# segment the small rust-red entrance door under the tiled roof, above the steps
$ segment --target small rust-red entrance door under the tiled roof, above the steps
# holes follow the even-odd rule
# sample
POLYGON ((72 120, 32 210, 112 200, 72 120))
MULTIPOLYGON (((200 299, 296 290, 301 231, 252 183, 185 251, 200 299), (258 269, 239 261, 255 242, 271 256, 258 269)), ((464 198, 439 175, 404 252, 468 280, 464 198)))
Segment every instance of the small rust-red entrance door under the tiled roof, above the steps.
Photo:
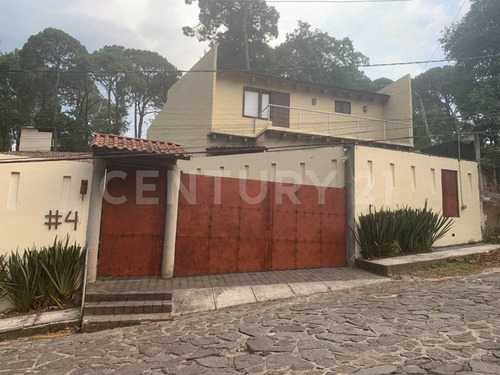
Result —
POLYGON ((157 172, 157 176, 148 173, 141 177, 134 169, 119 168, 108 170, 108 176, 113 171, 125 172, 126 177, 112 178, 107 184, 106 191, 112 199, 103 200, 97 275, 159 276, 166 173, 148 171, 157 172), (145 184, 142 188, 138 180, 145 184))

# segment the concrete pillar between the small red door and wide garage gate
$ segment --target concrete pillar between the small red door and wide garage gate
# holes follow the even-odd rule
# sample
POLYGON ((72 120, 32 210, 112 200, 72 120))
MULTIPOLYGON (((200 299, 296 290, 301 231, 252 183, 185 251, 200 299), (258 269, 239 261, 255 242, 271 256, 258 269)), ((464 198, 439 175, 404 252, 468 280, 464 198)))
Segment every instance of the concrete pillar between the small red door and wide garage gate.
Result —
POLYGON ((165 211, 165 230, 163 237, 163 256, 161 278, 174 277, 175 240, 177 237, 177 214, 179 212, 179 188, 181 172, 176 165, 169 166, 167 173, 167 209, 165 211))

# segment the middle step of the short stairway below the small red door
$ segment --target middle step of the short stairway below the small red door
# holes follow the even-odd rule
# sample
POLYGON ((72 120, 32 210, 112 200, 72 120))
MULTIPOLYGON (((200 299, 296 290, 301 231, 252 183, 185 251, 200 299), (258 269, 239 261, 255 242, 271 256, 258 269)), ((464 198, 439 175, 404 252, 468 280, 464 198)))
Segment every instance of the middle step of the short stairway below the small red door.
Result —
POLYGON ((83 316, 122 314, 163 314, 172 311, 172 301, 106 301, 85 302, 83 316))

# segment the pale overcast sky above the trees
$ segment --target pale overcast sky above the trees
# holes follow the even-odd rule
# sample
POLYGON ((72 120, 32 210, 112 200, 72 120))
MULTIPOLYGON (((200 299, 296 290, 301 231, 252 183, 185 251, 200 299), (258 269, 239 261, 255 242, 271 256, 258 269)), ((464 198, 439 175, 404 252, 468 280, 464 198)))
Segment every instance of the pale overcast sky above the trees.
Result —
MULTIPOLYGON (((280 37, 273 43, 282 41, 302 20, 336 38, 349 37, 372 64, 428 60, 444 27, 469 10, 469 0, 355 1, 270 3, 281 15, 280 37)), ((89 52, 111 44, 148 49, 180 69, 189 69, 208 49, 207 43, 182 34, 182 26, 194 26, 198 20, 197 3, 186 5, 184 0, 1 0, 1 4, 1 52, 22 48, 30 35, 46 27, 67 32, 89 52)), ((439 47, 432 58, 443 57, 439 47)), ((372 79, 397 79, 433 66, 365 68, 365 73, 372 79)))

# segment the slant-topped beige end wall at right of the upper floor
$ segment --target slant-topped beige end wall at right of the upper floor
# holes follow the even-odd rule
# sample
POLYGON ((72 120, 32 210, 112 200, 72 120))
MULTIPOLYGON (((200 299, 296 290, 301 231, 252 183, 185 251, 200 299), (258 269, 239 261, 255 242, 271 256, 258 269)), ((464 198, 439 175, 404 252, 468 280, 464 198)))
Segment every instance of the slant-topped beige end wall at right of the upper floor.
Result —
POLYGON ((384 106, 384 118, 396 123, 387 123, 388 134, 396 143, 406 143, 413 146, 413 107, 411 93, 411 77, 406 75, 387 85, 379 91, 390 95, 384 106), (399 122, 411 124, 411 131, 399 122), (410 137, 410 138, 408 138, 410 137))

